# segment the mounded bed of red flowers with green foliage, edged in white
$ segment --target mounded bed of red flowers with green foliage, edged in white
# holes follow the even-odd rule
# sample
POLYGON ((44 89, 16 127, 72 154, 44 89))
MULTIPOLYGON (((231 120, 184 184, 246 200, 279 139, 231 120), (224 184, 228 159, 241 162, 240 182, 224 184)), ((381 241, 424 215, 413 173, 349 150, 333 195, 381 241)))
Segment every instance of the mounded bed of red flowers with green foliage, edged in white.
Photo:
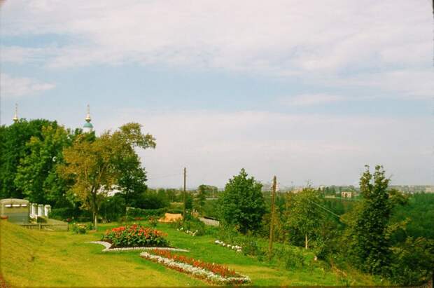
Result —
POLYGON ((111 247, 168 247, 167 234, 153 228, 145 228, 136 224, 120 226, 107 230, 102 241, 110 242, 111 247))

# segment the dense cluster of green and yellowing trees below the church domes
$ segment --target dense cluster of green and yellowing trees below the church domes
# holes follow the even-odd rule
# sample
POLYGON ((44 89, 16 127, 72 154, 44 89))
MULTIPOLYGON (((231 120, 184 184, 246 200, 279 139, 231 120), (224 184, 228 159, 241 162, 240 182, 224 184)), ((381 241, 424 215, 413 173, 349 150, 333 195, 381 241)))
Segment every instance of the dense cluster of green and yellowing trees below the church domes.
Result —
POLYGON ((137 123, 97 137, 55 121, 21 119, 0 126, 0 198, 79 206, 92 212, 96 226, 110 191, 120 191, 125 205, 146 203, 146 171, 135 149, 154 147, 137 123))

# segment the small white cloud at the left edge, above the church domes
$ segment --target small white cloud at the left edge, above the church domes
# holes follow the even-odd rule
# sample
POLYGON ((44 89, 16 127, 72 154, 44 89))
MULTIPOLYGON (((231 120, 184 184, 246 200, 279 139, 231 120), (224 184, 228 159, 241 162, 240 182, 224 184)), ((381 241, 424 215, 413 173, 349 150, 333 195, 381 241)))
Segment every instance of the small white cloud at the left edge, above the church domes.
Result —
POLYGON ((55 88, 55 85, 51 83, 41 83, 33 78, 12 77, 4 73, 0 74, 0 82, 0 92, 4 98, 34 95, 55 88))

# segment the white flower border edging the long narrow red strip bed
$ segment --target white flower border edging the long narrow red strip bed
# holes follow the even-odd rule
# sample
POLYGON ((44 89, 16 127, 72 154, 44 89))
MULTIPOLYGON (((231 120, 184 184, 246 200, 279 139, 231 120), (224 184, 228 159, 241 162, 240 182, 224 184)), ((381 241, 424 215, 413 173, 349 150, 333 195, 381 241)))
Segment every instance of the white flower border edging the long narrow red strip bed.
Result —
POLYGON ((244 284, 251 282, 250 277, 246 275, 239 274, 239 277, 223 277, 221 275, 217 275, 209 270, 205 270, 203 268, 198 268, 192 266, 188 263, 182 263, 178 261, 174 261, 169 258, 165 258, 159 255, 150 254, 148 252, 141 252, 141 257, 151 260, 153 262, 161 263, 167 268, 171 268, 174 270, 178 270, 184 273, 190 273, 195 277, 199 277, 205 280, 209 280, 210 282, 219 283, 219 284, 244 284))

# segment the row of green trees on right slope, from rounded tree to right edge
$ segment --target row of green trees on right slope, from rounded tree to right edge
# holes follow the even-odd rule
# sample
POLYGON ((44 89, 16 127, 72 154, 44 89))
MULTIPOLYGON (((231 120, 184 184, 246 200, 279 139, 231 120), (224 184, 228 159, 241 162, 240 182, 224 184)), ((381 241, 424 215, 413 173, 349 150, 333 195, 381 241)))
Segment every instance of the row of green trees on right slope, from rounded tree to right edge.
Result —
MULTIPOLYGON (((373 174, 367 166, 360 177, 360 200, 342 215, 325 205, 323 191, 310 186, 281 194, 276 201, 275 239, 399 284, 426 282, 434 268, 434 240, 406 233, 411 219, 394 214, 407 206, 408 197, 388 190, 389 181, 381 166, 373 174)), ((261 188, 245 170, 230 179, 218 200, 223 224, 240 233, 269 237, 269 205, 261 188)))

